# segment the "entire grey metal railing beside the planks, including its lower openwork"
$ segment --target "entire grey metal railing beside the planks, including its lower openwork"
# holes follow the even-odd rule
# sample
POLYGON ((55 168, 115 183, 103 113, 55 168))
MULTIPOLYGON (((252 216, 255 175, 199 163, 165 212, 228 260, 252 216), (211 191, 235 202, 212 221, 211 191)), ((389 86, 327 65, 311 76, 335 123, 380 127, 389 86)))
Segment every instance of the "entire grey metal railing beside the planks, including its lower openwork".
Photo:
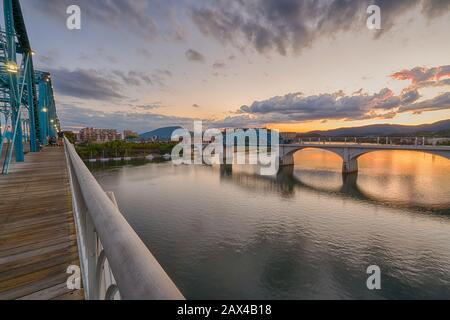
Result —
POLYGON ((65 150, 86 298, 184 299, 67 139, 65 150))

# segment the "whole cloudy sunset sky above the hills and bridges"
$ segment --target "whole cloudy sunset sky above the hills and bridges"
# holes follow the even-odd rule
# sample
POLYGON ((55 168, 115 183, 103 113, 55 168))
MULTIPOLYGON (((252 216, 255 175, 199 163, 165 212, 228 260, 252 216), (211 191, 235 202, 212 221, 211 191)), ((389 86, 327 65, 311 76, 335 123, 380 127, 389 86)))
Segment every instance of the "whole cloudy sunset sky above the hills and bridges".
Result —
POLYGON ((450 0, 21 0, 63 128, 450 118, 450 0), (66 27, 69 5, 81 29, 66 27), (369 30, 367 7, 381 9, 369 30))

